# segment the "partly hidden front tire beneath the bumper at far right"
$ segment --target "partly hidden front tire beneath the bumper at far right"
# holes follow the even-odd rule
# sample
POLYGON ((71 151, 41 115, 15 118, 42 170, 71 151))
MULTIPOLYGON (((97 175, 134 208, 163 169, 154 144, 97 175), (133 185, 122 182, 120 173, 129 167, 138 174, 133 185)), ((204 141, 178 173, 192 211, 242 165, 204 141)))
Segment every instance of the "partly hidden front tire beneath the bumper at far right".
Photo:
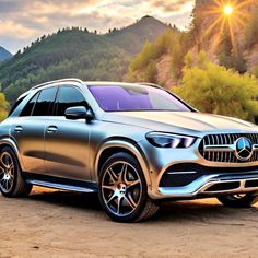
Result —
POLYGON ((258 195, 251 194, 241 194, 231 196, 218 197, 218 200, 225 207, 231 208, 250 208, 258 201, 258 195))

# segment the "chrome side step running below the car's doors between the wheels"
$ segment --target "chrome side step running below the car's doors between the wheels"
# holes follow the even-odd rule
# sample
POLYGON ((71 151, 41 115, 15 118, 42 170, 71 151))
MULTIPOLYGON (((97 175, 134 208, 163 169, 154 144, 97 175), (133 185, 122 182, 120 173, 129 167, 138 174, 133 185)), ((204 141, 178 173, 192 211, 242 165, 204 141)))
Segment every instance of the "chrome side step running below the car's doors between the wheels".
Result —
POLYGON ((68 190, 68 191, 97 192, 97 189, 92 189, 87 187, 56 184, 56 183, 35 180, 35 179, 27 179, 26 183, 35 185, 35 186, 42 186, 42 187, 48 187, 48 188, 68 190))

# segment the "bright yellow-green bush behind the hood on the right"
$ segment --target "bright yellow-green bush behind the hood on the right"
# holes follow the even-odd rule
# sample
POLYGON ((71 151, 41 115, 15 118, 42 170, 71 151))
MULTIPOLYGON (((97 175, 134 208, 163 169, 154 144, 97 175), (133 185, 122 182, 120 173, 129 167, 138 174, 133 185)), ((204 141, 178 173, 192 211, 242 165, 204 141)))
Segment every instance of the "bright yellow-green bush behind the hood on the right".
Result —
POLYGON ((185 67, 183 84, 176 93, 201 112, 254 121, 258 114, 257 79, 208 60, 202 60, 202 66, 198 62, 200 55, 195 66, 185 67))

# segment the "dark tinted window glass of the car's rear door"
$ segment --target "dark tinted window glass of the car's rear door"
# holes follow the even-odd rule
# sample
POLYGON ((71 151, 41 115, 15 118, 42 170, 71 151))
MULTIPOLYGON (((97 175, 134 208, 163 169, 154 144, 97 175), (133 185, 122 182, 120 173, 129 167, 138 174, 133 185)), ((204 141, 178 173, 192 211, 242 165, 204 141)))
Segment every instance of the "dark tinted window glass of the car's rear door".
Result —
POLYGON ((46 90, 42 90, 36 105, 34 106, 33 109, 33 116, 48 116, 51 107, 55 103, 55 97, 56 97, 56 87, 48 87, 46 90))

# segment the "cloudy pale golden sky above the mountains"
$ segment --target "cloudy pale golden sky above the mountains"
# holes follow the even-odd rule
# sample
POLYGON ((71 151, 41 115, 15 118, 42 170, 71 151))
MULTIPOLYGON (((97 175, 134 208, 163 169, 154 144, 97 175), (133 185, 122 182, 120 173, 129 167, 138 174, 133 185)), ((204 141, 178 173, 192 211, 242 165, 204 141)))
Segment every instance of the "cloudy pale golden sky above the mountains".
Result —
POLYGON ((68 26, 106 33, 152 15, 189 25, 195 0, 0 0, 0 46, 15 54, 44 34, 68 26))

